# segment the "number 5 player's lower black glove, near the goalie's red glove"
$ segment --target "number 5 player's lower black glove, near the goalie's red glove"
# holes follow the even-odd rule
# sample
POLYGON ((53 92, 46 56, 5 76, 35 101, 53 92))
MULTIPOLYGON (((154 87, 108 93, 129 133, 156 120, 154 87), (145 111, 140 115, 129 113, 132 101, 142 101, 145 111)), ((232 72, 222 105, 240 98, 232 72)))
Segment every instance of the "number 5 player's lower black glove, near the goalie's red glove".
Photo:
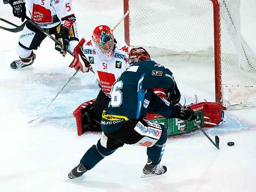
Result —
POLYGON ((70 41, 70 36, 69 36, 69 31, 70 29, 61 25, 61 31, 60 33, 57 33, 55 35, 56 39, 61 43, 61 45, 58 45, 57 43, 55 43, 55 49, 57 51, 60 51, 60 53, 63 55, 63 57, 66 56, 67 54, 67 47, 70 41))

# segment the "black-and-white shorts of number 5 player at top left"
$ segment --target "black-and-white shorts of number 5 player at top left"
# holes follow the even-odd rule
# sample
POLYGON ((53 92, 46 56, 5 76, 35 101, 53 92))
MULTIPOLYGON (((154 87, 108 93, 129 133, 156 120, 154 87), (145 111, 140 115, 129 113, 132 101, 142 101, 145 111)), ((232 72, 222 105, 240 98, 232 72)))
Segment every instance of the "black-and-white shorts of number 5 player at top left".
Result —
MULTIPOLYGON (((60 26, 52 27, 49 29, 43 29, 47 31, 49 34, 54 34, 56 38, 58 38, 58 33, 60 32, 60 26)), ((79 40, 78 33, 76 28, 76 22, 72 25, 70 31, 70 41, 71 40, 79 40)), ((24 49, 36 50, 41 42, 45 39, 46 35, 42 33, 39 29, 37 29, 30 22, 27 22, 24 29, 22 30, 22 34, 19 38, 19 45, 24 49)))

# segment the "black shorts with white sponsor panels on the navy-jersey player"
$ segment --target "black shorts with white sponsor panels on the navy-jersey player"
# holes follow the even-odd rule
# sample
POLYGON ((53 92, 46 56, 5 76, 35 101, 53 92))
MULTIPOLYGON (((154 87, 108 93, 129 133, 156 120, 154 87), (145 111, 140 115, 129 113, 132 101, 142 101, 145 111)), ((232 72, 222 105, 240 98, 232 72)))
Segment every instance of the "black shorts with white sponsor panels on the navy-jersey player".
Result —
POLYGON ((144 120, 129 120, 120 129, 111 133, 102 133, 100 143, 105 148, 121 147, 125 144, 153 147, 163 145, 167 140, 164 125, 144 120))

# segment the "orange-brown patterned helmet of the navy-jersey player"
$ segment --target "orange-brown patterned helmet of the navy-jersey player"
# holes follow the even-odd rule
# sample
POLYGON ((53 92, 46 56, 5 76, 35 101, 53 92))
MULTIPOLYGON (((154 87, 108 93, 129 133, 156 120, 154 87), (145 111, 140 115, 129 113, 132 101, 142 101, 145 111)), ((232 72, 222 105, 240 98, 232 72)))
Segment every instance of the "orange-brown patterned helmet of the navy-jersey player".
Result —
POLYGON ((132 65, 133 63, 138 63, 143 60, 149 60, 150 55, 148 52, 142 48, 132 48, 129 53, 129 64, 132 65))

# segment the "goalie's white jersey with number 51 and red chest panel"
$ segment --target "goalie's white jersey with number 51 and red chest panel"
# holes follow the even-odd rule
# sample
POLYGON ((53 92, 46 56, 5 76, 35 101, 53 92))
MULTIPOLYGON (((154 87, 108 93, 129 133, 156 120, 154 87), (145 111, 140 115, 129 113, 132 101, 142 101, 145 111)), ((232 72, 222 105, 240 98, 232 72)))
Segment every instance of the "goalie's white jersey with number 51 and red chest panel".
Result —
POLYGON ((83 54, 90 61, 92 70, 97 76, 97 80, 101 85, 102 91, 110 96, 113 83, 129 66, 128 53, 130 47, 124 41, 117 40, 113 57, 111 59, 106 56, 95 46, 92 38, 85 41, 83 45, 83 54))

